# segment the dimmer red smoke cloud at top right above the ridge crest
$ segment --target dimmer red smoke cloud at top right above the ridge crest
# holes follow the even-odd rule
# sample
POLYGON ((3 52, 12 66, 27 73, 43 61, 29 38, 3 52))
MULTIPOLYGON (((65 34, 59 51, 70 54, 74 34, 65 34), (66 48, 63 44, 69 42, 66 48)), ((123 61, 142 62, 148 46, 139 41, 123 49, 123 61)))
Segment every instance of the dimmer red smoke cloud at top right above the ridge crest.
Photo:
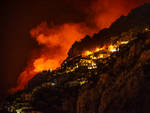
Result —
POLYGON ((108 28, 121 15, 149 0, 96 0, 91 5, 93 21, 99 29, 108 28))

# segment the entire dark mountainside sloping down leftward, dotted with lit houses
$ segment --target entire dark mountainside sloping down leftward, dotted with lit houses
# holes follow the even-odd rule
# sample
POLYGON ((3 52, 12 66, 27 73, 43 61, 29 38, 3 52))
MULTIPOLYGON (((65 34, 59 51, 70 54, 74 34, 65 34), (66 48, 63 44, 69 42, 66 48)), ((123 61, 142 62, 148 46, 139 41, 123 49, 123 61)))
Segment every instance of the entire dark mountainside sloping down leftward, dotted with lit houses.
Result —
POLYGON ((10 96, 1 105, 2 110, 18 113, 149 113, 148 12, 150 4, 145 4, 127 17, 120 17, 110 29, 102 30, 94 38, 86 37, 84 41, 76 42, 69 54, 90 42, 89 47, 94 48, 95 41, 96 46, 113 43, 117 47, 87 56, 70 55, 61 68, 37 74, 25 90, 10 96))

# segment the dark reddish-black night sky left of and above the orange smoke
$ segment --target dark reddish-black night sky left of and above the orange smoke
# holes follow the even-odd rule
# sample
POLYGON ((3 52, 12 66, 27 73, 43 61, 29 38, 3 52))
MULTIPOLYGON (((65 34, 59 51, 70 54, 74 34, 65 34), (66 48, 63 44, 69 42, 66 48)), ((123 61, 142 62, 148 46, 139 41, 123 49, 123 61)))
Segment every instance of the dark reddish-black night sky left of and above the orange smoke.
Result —
POLYGON ((43 21, 84 21, 92 0, 4 0, 0 3, 0 97, 14 87, 29 54, 37 48, 29 31, 43 21))

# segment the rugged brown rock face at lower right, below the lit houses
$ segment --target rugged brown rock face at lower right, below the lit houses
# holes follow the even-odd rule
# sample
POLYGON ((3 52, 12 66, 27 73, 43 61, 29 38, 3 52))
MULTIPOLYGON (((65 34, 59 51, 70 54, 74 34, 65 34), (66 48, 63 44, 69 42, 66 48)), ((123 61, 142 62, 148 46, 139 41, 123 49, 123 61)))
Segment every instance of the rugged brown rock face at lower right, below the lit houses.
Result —
POLYGON ((80 92, 77 113, 148 113, 150 34, 117 54, 93 86, 80 92))

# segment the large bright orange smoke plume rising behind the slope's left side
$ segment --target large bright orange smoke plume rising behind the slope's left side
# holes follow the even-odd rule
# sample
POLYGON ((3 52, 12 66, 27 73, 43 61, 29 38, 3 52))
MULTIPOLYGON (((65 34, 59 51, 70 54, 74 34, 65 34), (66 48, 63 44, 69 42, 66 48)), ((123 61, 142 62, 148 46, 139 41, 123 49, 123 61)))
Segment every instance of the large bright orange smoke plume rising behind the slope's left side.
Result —
POLYGON ((11 91, 23 89, 32 77, 43 70, 55 70, 60 67, 67 53, 75 41, 80 41, 85 35, 93 34, 95 31, 84 24, 63 24, 61 26, 48 27, 42 23, 31 30, 31 36, 36 39, 41 50, 37 58, 31 58, 25 70, 18 78, 18 86, 11 91))

